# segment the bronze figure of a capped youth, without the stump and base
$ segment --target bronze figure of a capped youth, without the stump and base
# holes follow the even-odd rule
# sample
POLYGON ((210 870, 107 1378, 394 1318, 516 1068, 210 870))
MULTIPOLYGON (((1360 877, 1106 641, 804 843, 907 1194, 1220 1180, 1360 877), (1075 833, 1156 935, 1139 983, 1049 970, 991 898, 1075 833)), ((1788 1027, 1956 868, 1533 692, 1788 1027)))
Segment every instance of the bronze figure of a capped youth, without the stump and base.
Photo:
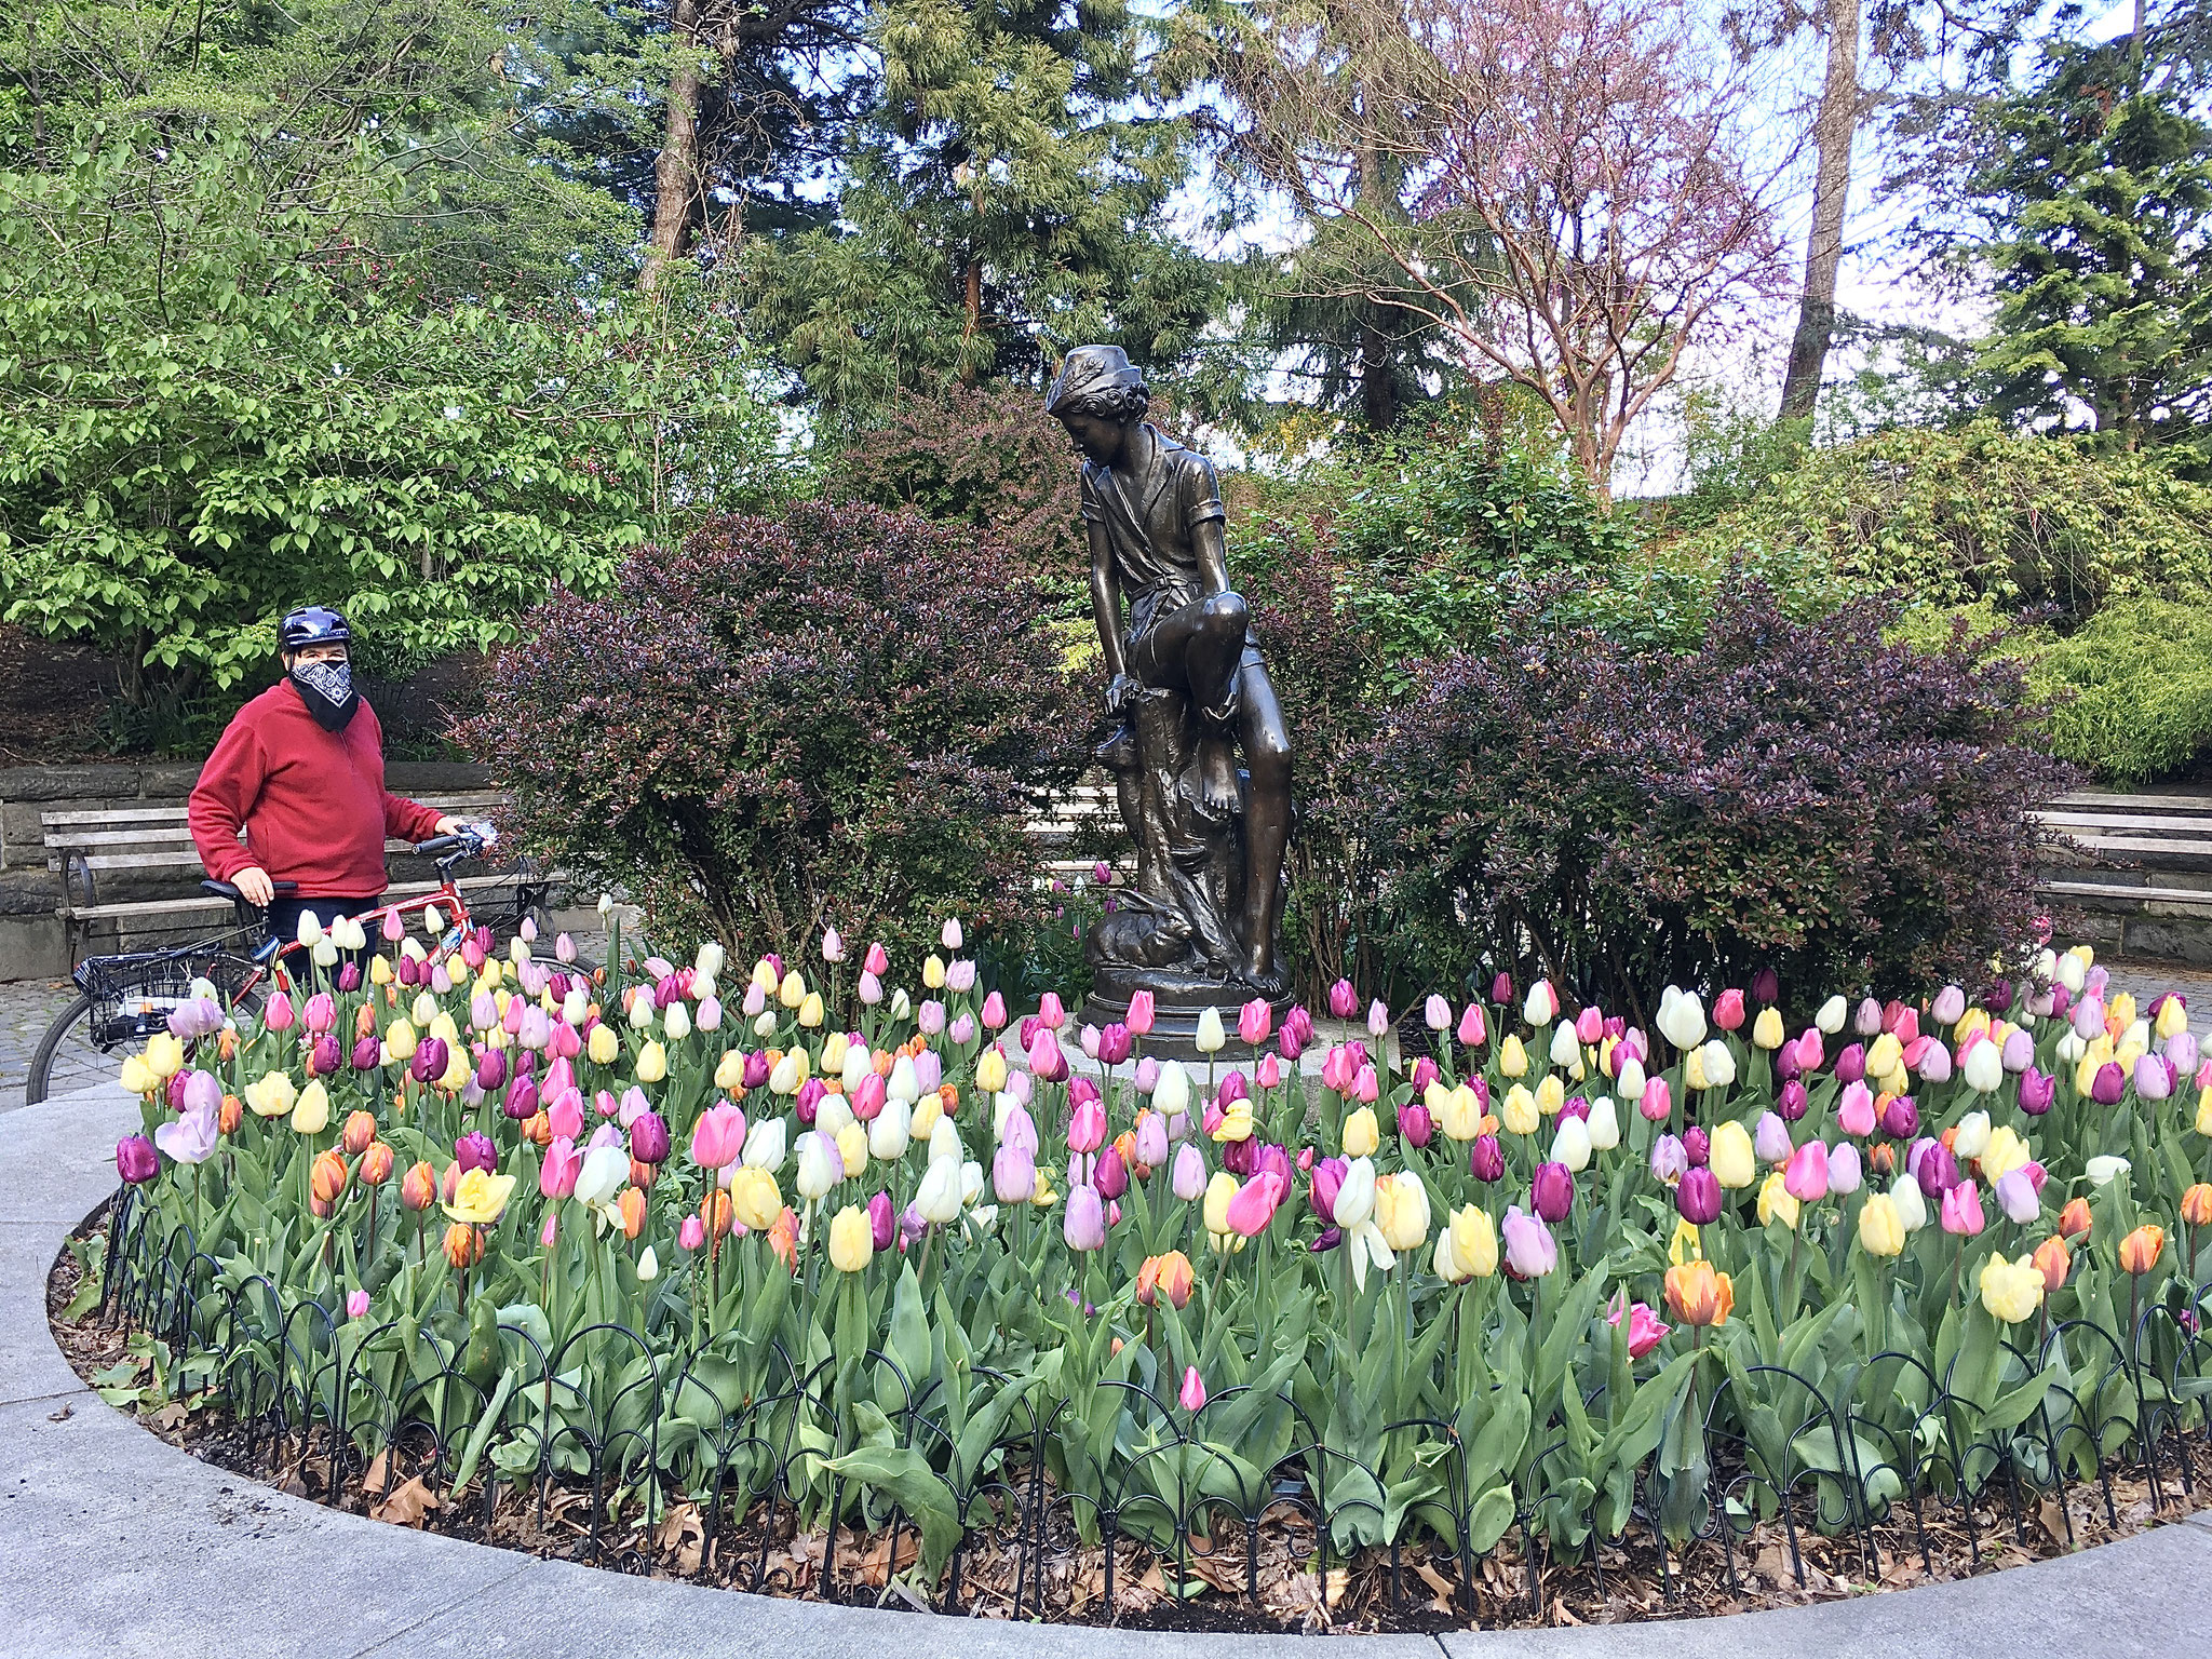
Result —
MULTIPOLYGON (((1197 726, 1192 807, 1221 825, 1239 810, 1245 816, 1237 971, 1252 989, 1279 995, 1274 940, 1290 834, 1290 734, 1252 641, 1250 611, 1230 588, 1212 462, 1146 422, 1148 405, 1144 376, 1117 345, 1071 352, 1044 398, 1046 414, 1068 429, 1088 462, 1084 529, 1091 604, 1106 653, 1106 712, 1126 717, 1144 690, 1188 699, 1197 726), (1239 743, 1248 790, 1237 779, 1239 743)), ((1126 770, 1133 743, 1124 726, 1102 759, 1126 770)))

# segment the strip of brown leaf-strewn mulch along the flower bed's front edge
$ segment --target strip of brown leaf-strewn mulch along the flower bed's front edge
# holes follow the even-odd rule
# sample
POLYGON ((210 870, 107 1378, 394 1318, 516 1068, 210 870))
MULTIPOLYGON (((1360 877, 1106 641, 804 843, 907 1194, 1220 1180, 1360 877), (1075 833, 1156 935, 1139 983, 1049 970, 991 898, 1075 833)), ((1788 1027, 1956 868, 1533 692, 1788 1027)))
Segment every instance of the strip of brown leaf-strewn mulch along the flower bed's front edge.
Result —
MULTIPOLYGON (((97 1312, 64 1318, 77 1287, 77 1259, 64 1250, 46 1281, 46 1312, 62 1354, 91 1380, 95 1371, 128 1358, 128 1332, 104 1325, 97 1312)), ((341 1449, 332 1458, 321 1433, 305 1440, 299 1436, 276 1440, 268 1431, 248 1433, 219 1398, 168 1400, 142 1409, 139 1420, 173 1447, 221 1469, 396 1526, 639 1577, 679 1577, 719 1588, 759 1588, 763 1595, 929 1610, 914 1588, 898 1582, 920 1553, 911 1526, 900 1528, 894 1559, 889 1535, 841 1526, 832 1551, 832 1540, 821 1528, 796 1531, 787 1509, 770 1515, 765 1504, 754 1504, 739 1522, 734 1504, 726 1506, 723 1526, 710 1542, 699 1504, 675 1504, 655 1524, 646 1517, 644 1504, 633 1500, 602 1515, 593 1537, 591 1493, 562 1482, 549 1482, 542 1495, 538 1486, 515 1489, 502 1482, 487 1522, 482 1478, 458 1495, 438 1491, 427 1482, 427 1453, 409 1458, 400 1449, 363 1464, 358 1453, 341 1449)), ((2212 1480, 2212 1449, 2203 1438, 2188 1444, 2188 1458, 2192 1482, 2201 1486, 2212 1480)), ((1172 1555, 1119 1542, 1108 1608, 1106 1551, 1084 1546, 1068 1511, 1053 1509, 1042 1551, 1035 1548, 1035 1540, 1024 1548, 1011 1524, 973 1531, 958 1559, 958 1606, 945 1610, 982 1619, 1015 1617, 1020 1579, 1020 1617, 1133 1630, 1369 1635, 1750 1613, 1942 1584, 1971 1573, 2051 1559, 2070 1548, 2106 1544, 2183 1520, 2194 1500, 2183 1491, 2179 1473, 2168 1458, 2161 1467, 2163 1504, 2152 1502, 2150 1482, 2139 1469, 2115 1473, 2110 1484, 2117 1526, 2106 1515, 2097 1484, 2068 1486, 2064 1509, 2057 1495, 2024 1493, 2017 1520, 2002 1489, 1993 1489, 1971 1511, 1971 1535, 1969 1515, 1958 1509, 1922 1502, 1916 1528, 1911 1511, 1898 1506, 1874 1528, 1878 1562, 1874 1575, 1867 1573, 1856 1533, 1823 1537, 1801 1526, 1796 1548, 1803 1586, 1792 1571, 1790 1537, 1778 1522, 1759 1526, 1741 1540, 1734 1553, 1734 1584, 1719 1544, 1670 1551, 1661 1579, 1655 1540, 1637 1528, 1621 1544, 1599 1544, 1595 1559, 1546 1559, 1540 1606, 1533 1606, 1528 1562, 1517 1540, 1509 1537, 1475 1568, 1473 1617, 1453 1599, 1458 1562, 1447 1551, 1405 1546, 1396 1573, 1389 1551, 1365 1551, 1349 1564, 1332 1557, 1323 1577, 1314 1571, 1312 1522, 1281 1511, 1259 1531, 1256 1568, 1245 1562, 1241 1522, 1223 1526, 1212 1540, 1194 1537, 1181 1571, 1172 1555), (1922 1564, 1922 1542, 1933 1559, 1933 1573, 1922 1564), (1175 1590, 1179 1573, 1181 1595, 1175 1590), (1256 1575, 1256 1597, 1248 1595, 1248 1573, 1256 1575)))

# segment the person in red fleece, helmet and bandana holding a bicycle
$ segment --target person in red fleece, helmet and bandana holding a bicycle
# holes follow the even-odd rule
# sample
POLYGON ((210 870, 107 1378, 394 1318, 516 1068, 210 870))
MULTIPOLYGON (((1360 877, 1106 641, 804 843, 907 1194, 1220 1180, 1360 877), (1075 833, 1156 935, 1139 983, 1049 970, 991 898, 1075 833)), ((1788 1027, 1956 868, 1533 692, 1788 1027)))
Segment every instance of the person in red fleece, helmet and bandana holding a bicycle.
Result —
POLYGON ((352 637, 345 617, 323 606, 279 624, 283 679, 232 717, 186 810, 208 876, 263 907, 283 940, 310 909, 330 922, 376 905, 385 836, 427 841, 462 827, 385 790, 385 732, 354 690, 352 637), (279 880, 299 891, 276 898, 279 880))

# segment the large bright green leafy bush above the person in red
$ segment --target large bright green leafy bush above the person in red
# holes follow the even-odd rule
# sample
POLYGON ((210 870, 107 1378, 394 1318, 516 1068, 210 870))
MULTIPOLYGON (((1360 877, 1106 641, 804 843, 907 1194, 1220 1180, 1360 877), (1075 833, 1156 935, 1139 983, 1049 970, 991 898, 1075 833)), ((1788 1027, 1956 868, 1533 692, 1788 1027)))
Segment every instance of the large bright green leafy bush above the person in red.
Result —
POLYGON ((779 487, 734 321, 695 290, 422 303, 265 164, 248 135, 88 128, 71 166, 0 175, 0 617, 117 655, 133 703, 237 686, 305 599, 484 648, 779 487))

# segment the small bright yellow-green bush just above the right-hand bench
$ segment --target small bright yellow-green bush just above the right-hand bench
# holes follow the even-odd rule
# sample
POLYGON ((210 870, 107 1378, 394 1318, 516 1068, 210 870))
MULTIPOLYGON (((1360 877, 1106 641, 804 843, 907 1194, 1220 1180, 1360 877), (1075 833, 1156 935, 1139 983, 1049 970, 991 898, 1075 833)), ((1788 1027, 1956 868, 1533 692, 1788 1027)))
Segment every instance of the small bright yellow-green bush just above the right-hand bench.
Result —
POLYGON ((2130 599, 2028 653, 2053 699, 2051 748, 2097 776, 2143 783, 2212 752, 2212 615, 2130 599))

